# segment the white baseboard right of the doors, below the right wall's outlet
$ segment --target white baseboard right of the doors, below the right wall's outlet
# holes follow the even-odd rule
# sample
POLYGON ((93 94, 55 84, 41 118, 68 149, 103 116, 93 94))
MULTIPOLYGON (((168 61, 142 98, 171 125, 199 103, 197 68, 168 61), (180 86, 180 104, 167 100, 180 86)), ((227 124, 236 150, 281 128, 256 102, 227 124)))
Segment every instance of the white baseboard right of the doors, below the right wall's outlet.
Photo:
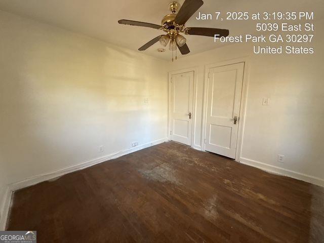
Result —
POLYGON ((309 183, 312 183, 312 184, 315 184, 318 186, 324 186, 324 179, 306 175, 306 174, 299 173, 296 171, 287 170, 287 169, 284 169, 281 167, 268 165, 268 164, 265 164, 265 163, 262 163, 262 162, 259 162, 259 161, 253 160, 253 159, 241 157, 240 163, 249 165, 249 166, 253 166, 253 167, 259 168, 261 170, 274 173, 274 174, 292 177, 292 178, 306 181, 306 182, 309 182, 309 183))

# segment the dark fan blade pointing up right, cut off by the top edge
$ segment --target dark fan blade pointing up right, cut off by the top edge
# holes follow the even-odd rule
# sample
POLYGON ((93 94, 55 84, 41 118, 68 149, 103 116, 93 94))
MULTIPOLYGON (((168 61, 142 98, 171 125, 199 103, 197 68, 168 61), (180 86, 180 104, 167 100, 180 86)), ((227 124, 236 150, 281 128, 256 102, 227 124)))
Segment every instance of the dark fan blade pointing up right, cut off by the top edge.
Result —
POLYGON ((180 8, 174 22, 183 25, 204 4, 201 0, 186 0, 180 8))

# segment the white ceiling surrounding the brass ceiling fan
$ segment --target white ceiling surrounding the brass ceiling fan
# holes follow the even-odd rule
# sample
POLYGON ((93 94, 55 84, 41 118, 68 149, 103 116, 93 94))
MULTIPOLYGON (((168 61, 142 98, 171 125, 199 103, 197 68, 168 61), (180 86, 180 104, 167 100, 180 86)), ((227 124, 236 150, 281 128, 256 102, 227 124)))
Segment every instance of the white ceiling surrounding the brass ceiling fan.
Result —
MULTIPOLYGON (((150 39, 164 33, 161 30, 120 25, 119 19, 160 24, 161 19, 169 14, 171 0, 0 0, 0 9, 46 22, 71 31, 83 33, 102 41, 137 50, 150 39)), ((184 0, 179 1, 181 4, 184 0)), ((204 5, 198 10, 202 13, 228 11, 270 12, 270 11, 318 11, 316 19, 323 16, 322 0, 204 0, 204 5)), ((196 20, 194 14, 187 22, 187 27, 217 27, 227 28, 230 35, 255 33, 256 21, 223 21, 196 20)), ((212 37, 186 36, 192 55, 219 47, 212 37)), ((171 53, 158 53, 160 44, 156 43, 146 54, 170 59, 171 53)))

